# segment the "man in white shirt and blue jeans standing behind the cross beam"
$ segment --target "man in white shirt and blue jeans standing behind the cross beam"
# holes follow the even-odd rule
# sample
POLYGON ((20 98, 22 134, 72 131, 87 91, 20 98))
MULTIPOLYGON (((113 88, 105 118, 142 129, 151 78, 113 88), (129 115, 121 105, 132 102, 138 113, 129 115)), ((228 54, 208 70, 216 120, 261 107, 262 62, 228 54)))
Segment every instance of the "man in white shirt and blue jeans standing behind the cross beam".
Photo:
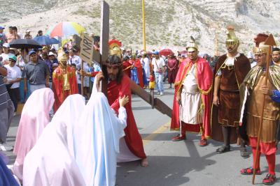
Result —
POLYGON ((164 94, 163 79, 165 78, 165 60, 160 58, 159 52, 153 53, 155 58, 152 60, 153 71, 155 72, 155 83, 157 84, 158 95, 164 94))

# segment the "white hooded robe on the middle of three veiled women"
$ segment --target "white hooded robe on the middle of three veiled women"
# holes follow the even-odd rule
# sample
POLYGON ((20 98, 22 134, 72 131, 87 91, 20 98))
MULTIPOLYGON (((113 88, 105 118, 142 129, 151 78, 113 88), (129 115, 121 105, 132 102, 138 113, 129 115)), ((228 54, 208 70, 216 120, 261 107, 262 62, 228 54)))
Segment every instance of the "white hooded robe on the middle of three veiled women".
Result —
POLYGON ((64 100, 25 157, 24 186, 85 186, 73 150, 73 127, 83 127, 78 118, 84 108, 82 95, 69 95, 64 100))

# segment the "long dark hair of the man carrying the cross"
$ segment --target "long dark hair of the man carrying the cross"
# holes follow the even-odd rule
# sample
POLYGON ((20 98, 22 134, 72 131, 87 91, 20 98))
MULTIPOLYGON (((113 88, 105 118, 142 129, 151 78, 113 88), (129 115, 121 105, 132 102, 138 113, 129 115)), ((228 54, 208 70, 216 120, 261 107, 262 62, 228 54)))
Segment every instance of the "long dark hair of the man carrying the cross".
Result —
MULTIPOLYGON (((117 55, 111 55, 106 61, 109 65, 118 65, 118 75, 116 78, 117 84, 120 84, 123 79, 123 62, 117 55)), ((107 72, 107 65, 102 65, 102 72, 106 81, 108 81, 108 72, 107 72)))

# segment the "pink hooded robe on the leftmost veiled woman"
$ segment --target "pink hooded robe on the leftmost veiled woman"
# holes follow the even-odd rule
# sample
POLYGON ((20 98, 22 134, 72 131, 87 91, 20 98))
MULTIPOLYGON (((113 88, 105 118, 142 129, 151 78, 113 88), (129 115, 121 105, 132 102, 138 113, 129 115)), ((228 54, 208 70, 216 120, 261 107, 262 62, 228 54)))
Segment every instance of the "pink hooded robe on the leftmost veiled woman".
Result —
POLYGON ((43 129, 50 122, 49 112, 53 102, 55 102, 55 98, 52 90, 50 88, 41 88, 30 95, 22 109, 13 150, 13 153, 17 155, 13 172, 20 180, 22 180, 25 156, 36 144, 43 129))

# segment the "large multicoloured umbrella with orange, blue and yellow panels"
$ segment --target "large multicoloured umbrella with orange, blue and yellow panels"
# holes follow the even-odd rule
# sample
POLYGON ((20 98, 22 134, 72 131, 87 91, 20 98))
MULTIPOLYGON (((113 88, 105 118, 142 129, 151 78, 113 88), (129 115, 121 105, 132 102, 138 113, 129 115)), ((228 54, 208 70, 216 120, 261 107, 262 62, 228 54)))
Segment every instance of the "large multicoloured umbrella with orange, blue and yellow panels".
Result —
POLYGON ((76 22, 59 22, 47 32, 47 35, 51 38, 55 36, 66 37, 74 34, 80 35, 84 31, 85 28, 76 22))

